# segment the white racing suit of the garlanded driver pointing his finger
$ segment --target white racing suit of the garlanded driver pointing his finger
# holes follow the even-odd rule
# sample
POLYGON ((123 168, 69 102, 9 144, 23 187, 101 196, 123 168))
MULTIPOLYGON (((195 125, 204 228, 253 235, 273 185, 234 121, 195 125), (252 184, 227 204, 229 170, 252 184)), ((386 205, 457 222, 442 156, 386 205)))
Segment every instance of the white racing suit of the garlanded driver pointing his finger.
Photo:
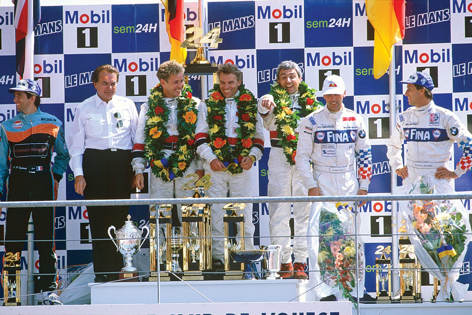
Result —
MULTIPOLYGON (((290 94, 292 102, 292 110, 300 111, 298 106, 298 97, 300 93, 290 94)), ((267 111, 262 107, 263 98, 272 98, 270 94, 266 94, 259 99, 257 110, 261 115, 264 128, 270 132, 270 154, 268 162, 268 178, 267 196, 307 196, 308 189, 303 186, 303 180, 295 165, 287 162, 287 157, 283 152, 278 141, 277 125, 275 124, 275 115, 273 110, 267 111)), ((301 117, 303 118, 303 117, 301 117)), ((295 129, 298 132, 298 128, 295 129)), ((290 240, 289 220, 292 215, 292 207, 290 203, 268 203, 269 209, 269 232, 270 244, 282 246, 282 264, 292 262, 292 253, 294 254, 295 263, 305 263, 308 258, 308 248, 306 244, 306 230, 308 227, 308 217, 310 216, 311 203, 293 203, 294 213, 294 246, 290 240)))

